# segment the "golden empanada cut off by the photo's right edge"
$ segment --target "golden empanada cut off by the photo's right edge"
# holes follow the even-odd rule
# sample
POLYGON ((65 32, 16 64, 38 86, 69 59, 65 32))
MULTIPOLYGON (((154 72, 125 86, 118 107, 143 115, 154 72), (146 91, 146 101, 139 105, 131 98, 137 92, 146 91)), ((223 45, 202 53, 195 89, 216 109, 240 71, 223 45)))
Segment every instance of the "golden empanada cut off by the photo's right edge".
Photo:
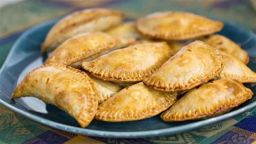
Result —
POLYGON ((221 52, 221 54, 223 56, 224 68, 217 76, 218 78, 235 79, 241 83, 256 82, 256 73, 242 61, 225 52, 221 52))

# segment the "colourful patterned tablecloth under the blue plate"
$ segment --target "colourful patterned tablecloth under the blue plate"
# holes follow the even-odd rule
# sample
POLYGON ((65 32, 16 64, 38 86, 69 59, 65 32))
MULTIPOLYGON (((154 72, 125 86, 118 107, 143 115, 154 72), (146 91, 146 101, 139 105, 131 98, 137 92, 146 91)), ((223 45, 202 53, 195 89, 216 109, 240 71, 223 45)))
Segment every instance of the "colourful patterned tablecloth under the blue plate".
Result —
MULTIPOLYGON (((4 0, 0 0, 0 4, 4 0)), ((27 0, 0 9, 0 67, 15 40, 35 24, 90 7, 124 11, 136 19, 154 11, 189 11, 227 20, 256 32, 256 12, 249 0, 27 0)), ((88 137, 38 125, 0 105, 0 143, 7 144, 172 144, 256 143, 256 109, 215 126, 173 136, 145 139, 88 137)))

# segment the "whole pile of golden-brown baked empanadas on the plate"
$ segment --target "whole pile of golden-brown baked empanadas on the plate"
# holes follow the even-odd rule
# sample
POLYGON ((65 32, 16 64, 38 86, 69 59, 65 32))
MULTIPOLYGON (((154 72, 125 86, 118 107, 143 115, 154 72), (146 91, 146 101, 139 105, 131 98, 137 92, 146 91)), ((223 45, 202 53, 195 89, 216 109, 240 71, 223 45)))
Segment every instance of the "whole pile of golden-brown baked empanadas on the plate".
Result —
POLYGON ((93 118, 135 121, 162 112, 164 121, 213 117, 252 98, 242 83, 256 82, 256 73, 240 45, 214 34, 222 22, 172 11, 123 19, 94 8, 60 20, 41 48, 52 54, 12 98, 34 96, 81 127, 93 118))

